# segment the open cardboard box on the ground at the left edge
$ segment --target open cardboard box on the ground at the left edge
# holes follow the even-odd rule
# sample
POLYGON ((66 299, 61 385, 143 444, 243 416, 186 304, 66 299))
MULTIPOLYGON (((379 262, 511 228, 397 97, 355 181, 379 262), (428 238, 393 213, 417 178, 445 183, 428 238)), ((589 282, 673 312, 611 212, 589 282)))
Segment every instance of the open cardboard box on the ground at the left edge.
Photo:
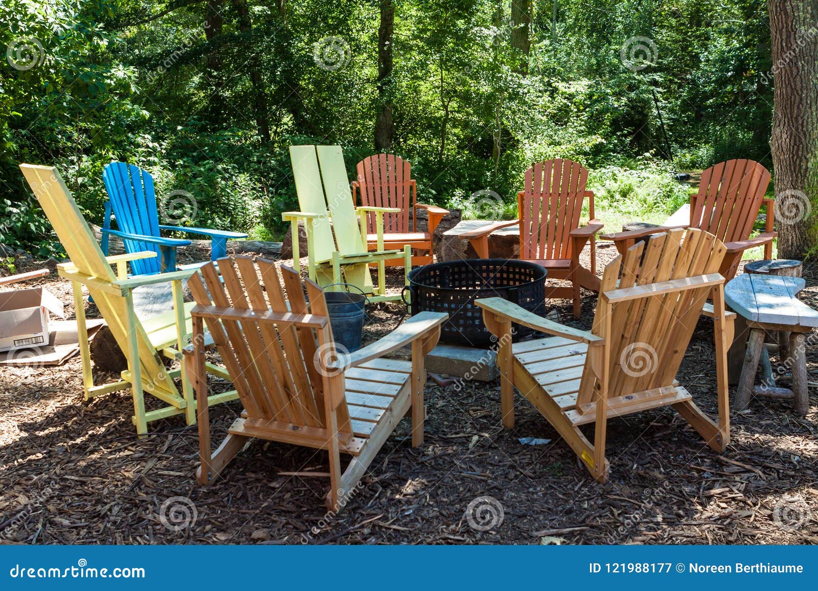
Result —
POLYGON ((65 318, 62 302, 42 287, 0 293, 0 351, 46 347, 48 312, 65 318))

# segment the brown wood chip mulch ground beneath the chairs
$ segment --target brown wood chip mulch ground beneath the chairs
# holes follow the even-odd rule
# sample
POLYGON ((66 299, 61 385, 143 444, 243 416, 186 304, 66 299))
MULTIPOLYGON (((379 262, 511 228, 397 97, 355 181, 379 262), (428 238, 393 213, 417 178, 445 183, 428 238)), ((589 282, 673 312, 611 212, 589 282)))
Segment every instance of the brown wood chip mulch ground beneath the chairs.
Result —
MULTIPOLYGON (((600 248, 601 270, 612 249, 600 248)), ((42 262, 18 262, 29 271, 42 262)), ((818 307, 805 265, 804 301, 818 307)), ((401 270, 390 271, 398 285, 401 270)), ((47 286, 74 317, 70 285, 47 286)), ((591 294, 569 325, 589 329, 591 294)), ((88 305, 88 304, 87 304, 88 305)), ((88 305, 89 316, 96 308, 88 305)), ((370 310, 366 338, 398 323, 402 305, 370 310)), ((712 323, 699 322, 678 377, 716 414, 712 323)), ((500 385, 429 380, 425 445, 405 419, 343 513, 326 513, 324 452, 254 441, 199 486, 196 427, 181 417, 135 437, 129 392, 83 401, 79 356, 61 367, 0 368, 0 542, 11 544, 814 544, 818 542, 818 353, 807 350, 810 412, 753 400, 733 413, 732 441, 712 452, 669 409, 609 422, 611 477, 596 484, 555 430, 518 397, 501 429, 500 385), (551 440, 523 445, 521 437, 551 440)), ((112 379, 96 375, 97 383, 112 379)), ((786 385, 787 379, 783 380, 786 385)), ((731 388, 731 396, 735 388, 731 388)), ((146 405, 153 405, 146 396, 146 405)), ((213 441, 240 413, 211 409, 213 441)), ((591 432, 592 433, 592 427, 591 432)))

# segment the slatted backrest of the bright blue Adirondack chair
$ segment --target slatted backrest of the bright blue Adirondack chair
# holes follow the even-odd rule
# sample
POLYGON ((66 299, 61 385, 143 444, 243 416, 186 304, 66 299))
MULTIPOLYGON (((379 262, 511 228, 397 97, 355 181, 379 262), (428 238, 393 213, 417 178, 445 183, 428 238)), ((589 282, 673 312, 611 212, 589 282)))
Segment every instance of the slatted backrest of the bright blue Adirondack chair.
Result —
MULTIPOLYGON (((112 162, 102 171, 111 209, 119 231, 128 234, 159 236, 159 213, 156 210, 156 192, 153 177, 133 164, 112 162)), ((135 275, 160 272, 160 248, 157 244, 124 240, 125 251, 139 253, 152 250, 155 258, 133 261, 135 275)))

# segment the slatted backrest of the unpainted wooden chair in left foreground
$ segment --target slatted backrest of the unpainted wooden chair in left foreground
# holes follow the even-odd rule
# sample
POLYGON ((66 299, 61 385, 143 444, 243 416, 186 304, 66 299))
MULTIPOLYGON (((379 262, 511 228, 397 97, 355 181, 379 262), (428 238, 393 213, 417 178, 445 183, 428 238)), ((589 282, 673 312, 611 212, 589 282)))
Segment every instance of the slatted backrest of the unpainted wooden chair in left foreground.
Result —
MULTIPOLYGON (((252 310, 328 316, 321 288, 308 281, 308 304, 293 269, 282 267, 279 275, 272 261, 259 258, 257 271, 251 257, 236 257, 235 262, 227 257, 218 260, 218 271, 223 282, 213 262, 201 267, 201 277, 193 275, 188 281, 198 304, 194 315, 204 307, 228 313, 252 310)), ((315 329, 285 320, 259 321, 252 316, 237 320, 223 314, 220 318, 205 316, 205 324, 249 419, 327 427, 324 385, 316 363, 317 353, 321 360, 334 358, 331 341, 324 345, 325 351, 319 351, 315 329)), ((329 335, 331 338, 331 332, 329 335)), ((339 428, 350 432, 345 400, 338 412, 339 428)))

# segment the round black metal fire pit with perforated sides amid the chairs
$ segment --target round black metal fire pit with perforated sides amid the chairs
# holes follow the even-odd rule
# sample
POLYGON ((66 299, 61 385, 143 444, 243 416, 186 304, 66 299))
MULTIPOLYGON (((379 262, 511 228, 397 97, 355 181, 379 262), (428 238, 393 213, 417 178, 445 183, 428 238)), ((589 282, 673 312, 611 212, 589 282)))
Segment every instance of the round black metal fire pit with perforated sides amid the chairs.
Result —
MULTIPOLYGON (((474 305, 478 298, 503 298, 526 310, 545 316, 546 270, 532 262, 503 258, 435 262, 409 273, 411 303, 409 314, 421 311, 447 312, 440 340, 444 343, 483 347, 492 343, 492 334, 483 323, 483 310, 474 305)), ((404 302, 406 300, 404 299, 404 302)), ((536 331, 516 327, 514 340, 536 331)))

